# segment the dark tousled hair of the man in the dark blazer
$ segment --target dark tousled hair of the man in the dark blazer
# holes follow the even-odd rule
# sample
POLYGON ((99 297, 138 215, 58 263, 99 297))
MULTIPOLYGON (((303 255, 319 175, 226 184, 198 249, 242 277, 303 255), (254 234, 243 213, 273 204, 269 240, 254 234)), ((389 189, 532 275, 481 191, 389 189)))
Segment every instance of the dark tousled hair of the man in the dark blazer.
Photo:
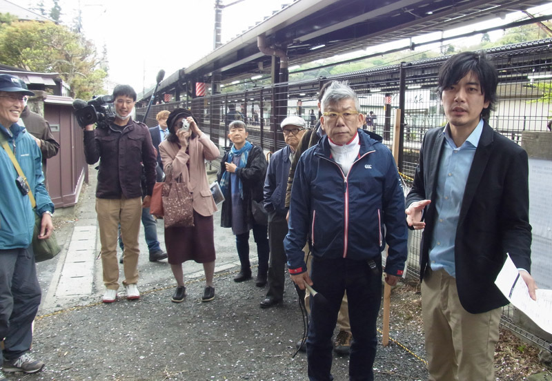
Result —
POLYGON ((484 108, 481 116, 489 120, 491 111, 496 108, 498 97, 496 88, 498 84, 498 72, 495 66, 486 58, 485 52, 462 52, 446 60, 439 70, 439 97, 442 97, 443 90, 460 79, 473 72, 480 81, 481 91, 485 101, 489 101, 489 107, 484 108))

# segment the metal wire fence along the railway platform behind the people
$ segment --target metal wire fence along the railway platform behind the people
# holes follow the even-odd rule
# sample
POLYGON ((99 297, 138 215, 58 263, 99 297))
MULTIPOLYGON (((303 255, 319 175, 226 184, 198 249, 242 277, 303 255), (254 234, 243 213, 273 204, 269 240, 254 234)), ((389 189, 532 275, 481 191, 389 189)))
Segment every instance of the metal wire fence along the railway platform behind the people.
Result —
MULTIPOLYGON (((523 131, 546 131, 550 115, 552 92, 552 39, 520 43, 486 51, 499 71, 496 110, 489 124, 517 144, 523 131)), ((313 127, 317 119, 317 95, 327 81, 348 81, 357 92, 362 113, 368 115, 368 128, 383 137, 389 148, 393 143, 395 115, 402 112, 402 139, 399 168, 408 186, 415 172, 424 133, 444 126, 440 99, 435 92, 437 73, 448 57, 402 63, 385 68, 349 72, 315 80, 276 84, 244 92, 232 92, 212 97, 199 97, 189 102, 172 102, 152 106, 148 126, 155 126, 159 110, 177 106, 191 108, 202 130, 221 149, 229 146, 228 124, 243 119, 248 124, 248 139, 264 150, 282 148, 284 140, 279 123, 290 115, 303 117, 313 127), (370 114, 372 112, 372 114, 370 114)), ((144 110, 137 110, 137 113, 144 110)), ((217 164, 217 163, 213 163, 217 164)), ((419 279, 420 232, 409 239, 407 276, 419 279)), ((552 264, 548 273, 552 271, 552 264)), ((511 306, 504 308, 502 324, 545 349, 551 349, 551 338, 544 331, 525 329, 523 319, 511 306), (534 332, 537 331, 538 334, 534 332)))

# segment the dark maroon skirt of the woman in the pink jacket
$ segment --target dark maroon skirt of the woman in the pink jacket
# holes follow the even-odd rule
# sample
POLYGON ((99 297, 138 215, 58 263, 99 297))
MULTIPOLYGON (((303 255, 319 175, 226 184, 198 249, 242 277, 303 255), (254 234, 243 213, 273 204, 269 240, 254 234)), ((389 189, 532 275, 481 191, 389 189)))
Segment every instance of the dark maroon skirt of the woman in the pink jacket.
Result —
POLYGON ((189 260, 208 263, 215 260, 213 216, 194 211, 194 226, 165 228, 168 263, 181 264, 189 260))

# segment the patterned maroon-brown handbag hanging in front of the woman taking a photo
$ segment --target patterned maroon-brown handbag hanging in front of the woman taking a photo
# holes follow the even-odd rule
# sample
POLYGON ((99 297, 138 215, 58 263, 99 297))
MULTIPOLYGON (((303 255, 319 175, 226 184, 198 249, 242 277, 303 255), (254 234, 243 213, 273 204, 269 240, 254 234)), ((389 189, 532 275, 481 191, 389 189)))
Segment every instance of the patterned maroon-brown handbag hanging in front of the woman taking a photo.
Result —
POLYGON ((193 197, 188 186, 172 177, 172 168, 166 173, 161 190, 165 228, 194 226, 193 197), (168 182, 167 182, 168 180, 168 182))

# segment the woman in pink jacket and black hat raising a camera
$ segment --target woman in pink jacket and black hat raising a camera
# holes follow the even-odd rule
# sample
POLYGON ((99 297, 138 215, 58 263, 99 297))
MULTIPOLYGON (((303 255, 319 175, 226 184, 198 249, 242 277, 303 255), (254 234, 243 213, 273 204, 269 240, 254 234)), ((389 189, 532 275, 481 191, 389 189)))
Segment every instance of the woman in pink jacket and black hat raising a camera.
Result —
MULTIPOLYGON (((215 298, 213 273, 215 272, 215 241, 213 239, 213 213, 217 206, 209 189, 205 159, 219 156, 219 148, 199 130, 190 110, 177 108, 167 119, 168 137, 159 144, 161 160, 167 176, 184 182, 193 195, 194 226, 165 228, 165 246, 177 289, 172 302, 186 297, 182 264, 195 260, 203 264, 205 290, 201 301, 215 298)), ((166 179, 165 181, 168 181, 166 179)))

